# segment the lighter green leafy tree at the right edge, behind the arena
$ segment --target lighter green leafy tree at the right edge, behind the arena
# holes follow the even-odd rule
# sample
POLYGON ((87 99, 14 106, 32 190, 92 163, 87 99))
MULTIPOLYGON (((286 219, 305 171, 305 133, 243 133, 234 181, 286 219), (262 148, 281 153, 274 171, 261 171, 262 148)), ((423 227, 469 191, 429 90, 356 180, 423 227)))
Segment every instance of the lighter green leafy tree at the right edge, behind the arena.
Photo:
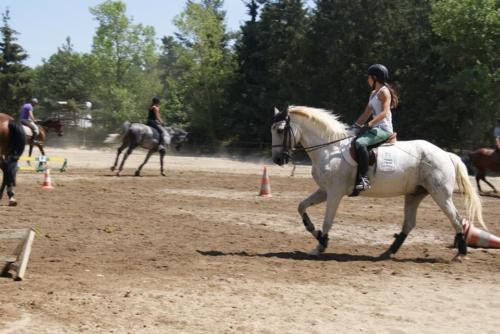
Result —
POLYGON ((455 145, 491 145, 491 129, 500 115, 500 3, 435 0, 431 22, 440 37, 435 118, 456 135, 436 136, 455 145))

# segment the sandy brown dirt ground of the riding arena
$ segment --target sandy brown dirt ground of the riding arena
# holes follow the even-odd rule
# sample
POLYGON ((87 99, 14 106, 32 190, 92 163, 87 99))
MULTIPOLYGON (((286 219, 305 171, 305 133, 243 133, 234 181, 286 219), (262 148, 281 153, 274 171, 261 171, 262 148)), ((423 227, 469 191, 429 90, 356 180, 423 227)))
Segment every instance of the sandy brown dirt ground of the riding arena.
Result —
MULTIPOLYGON (((498 333, 500 250, 451 262, 454 231, 431 199, 395 259, 403 198, 346 198, 319 258, 296 212, 310 167, 167 156, 142 177, 137 151, 116 177, 113 151, 48 150, 69 160, 18 176, 0 229, 37 235, 24 281, 0 277, 0 333, 498 333)), ((269 162, 267 162, 269 163, 269 162)), ((500 187, 499 178, 491 180, 500 187)), ((500 235, 500 198, 482 196, 500 235)), ((455 203, 463 212, 461 195, 455 203)), ((316 226, 324 206, 310 209, 316 226)))

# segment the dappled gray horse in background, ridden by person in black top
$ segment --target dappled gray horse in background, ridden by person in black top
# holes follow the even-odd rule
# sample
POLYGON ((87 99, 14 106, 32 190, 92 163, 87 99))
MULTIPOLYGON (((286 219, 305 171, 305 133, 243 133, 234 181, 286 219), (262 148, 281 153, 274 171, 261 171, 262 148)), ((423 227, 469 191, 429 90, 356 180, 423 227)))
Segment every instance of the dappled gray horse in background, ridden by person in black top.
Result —
MULTIPOLYGON (((160 153, 160 173, 161 175, 165 176, 165 173, 163 171, 163 158, 165 156, 165 150, 158 150, 159 134, 157 133, 157 131, 153 130, 151 127, 145 124, 130 123, 130 122, 125 122, 123 124, 123 128, 125 130, 125 133, 123 135, 122 144, 120 147, 118 147, 115 163, 111 167, 111 170, 114 171, 116 169, 116 165, 118 164, 118 159, 120 157, 120 154, 125 148, 127 148, 127 151, 125 152, 123 160, 120 164, 120 167, 116 172, 116 175, 120 176, 123 170, 123 165, 125 164, 125 160, 127 160, 128 156, 137 146, 141 146, 142 148, 147 149, 148 153, 146 155, 146 159, 144 159, 144 162, 135 171, 135 176, 141 175, 142 167, 144 167, 144 165, 148 162, 151 155, 153 155, 153 153, 155 152, 160 153)), ((173 145, 174 148, 177 151, 179 151, 181 143, 187 140, 188 133, 179 128, 166 127, 165 129, 168 132, 164 137, 165 145, 167 147, 173 145)), ((114 139, 118 136, 119 135, 110 135, 105 142, 110 143, 114 141, 114 139)))

